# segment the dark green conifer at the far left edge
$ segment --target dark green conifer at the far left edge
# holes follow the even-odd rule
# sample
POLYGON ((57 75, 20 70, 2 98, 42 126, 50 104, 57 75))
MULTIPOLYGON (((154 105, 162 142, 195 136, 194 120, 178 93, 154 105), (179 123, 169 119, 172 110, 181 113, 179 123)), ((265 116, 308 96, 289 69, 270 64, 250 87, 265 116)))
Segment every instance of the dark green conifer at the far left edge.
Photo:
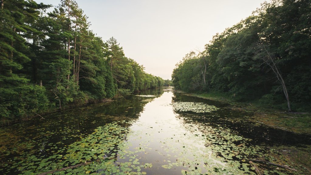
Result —
POLYGON ((29 62, 30 33, 39 16, 47 8, 34 1, 1 1, 0 22, 0 116, 12 118, 46 107, 44 88, 29 84, 21 74, 23 64, 29 62), (40 90, 39 90, 40 89, 40 90), (37 91, 36 94, 31 94, 37 91), (33 101, 33 105, 31 105, 33 101), (41 104, 36 103, 40 101, 41 104))

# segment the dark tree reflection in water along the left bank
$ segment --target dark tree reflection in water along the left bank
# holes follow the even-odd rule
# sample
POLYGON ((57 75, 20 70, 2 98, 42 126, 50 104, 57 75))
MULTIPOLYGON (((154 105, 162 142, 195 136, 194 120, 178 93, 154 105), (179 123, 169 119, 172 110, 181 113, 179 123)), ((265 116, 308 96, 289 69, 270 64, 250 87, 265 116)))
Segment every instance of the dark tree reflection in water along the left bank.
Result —
MULTIPOLYGON (((155 99, 160 97, 163 91, 156 89, 140 92, 140 94, 148 93, 156 95, 149 99, 155 99)), ((34 118, 2 127, 0 129, 0 166, 7 168, 0 172, 6 172, 12 168, 9 174, 16 174, 17 170, 13 164, 21 160, 30 156, 48 158, 55 153, 63 154, 62 152, 67 150, 66 145, 81 140, 100 126, 115 121, 137 120, 148 102, 150 101, 131 95, 110 103, 93 104, 52 113, 44 116, 45 120, 34 118), (61 148, 63 150, 59 150, 61 148)), ((128 128, 131 123, 121 122, 118 125, 121 128, 128 128)), ((118 130, 115 134, 118 134, 118 130)), ((117 135, 116 137, 118 138, 117 135)))

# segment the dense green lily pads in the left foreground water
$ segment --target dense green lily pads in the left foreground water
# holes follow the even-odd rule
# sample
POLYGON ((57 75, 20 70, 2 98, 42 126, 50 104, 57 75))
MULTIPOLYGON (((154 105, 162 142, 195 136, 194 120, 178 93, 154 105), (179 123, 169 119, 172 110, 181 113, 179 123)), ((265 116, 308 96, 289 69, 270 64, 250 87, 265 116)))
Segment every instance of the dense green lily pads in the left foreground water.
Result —
MULTIPOLYGON (((60 148, 53 155, 45 157, 43 155, 26 155, 21 161, 13 163, 19 174, 40 174, 52 172, 81 163, 83 166, 69 168, 63 171, 56 171, 53 174, 146 174, 144 168, 152 167, 150 163, 140 163, 135 156, 130 161, 117 163, 117 157, 124 159, 124 156, 132 156, 132 152, 124 151, 128 148, 125 142, 129 132, 126 121, 112 122, 87 135, 81 140, 60 148)), ((138 150, 139 152, 141 150, 138 150)), ((52 173, 51 173, 52 174, 52 173)))

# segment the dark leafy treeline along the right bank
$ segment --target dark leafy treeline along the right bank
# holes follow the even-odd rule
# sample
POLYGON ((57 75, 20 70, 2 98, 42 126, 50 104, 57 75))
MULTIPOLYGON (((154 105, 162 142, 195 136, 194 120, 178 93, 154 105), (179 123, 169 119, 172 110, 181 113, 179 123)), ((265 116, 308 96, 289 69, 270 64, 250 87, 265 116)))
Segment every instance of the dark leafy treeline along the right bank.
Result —
MULTIPOLYGON (((212 26, 211 26, 212 27, 212 26)), ((272 0, 176 64, 174 87, 310 110, 311 1, 272 0)))

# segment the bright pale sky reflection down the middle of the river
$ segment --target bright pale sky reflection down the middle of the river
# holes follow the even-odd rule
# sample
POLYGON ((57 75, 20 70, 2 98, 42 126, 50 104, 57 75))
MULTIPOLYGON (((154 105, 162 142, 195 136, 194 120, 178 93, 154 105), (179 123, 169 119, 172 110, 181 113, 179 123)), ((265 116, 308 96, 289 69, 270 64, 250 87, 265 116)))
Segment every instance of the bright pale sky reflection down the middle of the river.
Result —
POLYGON ((200 123, 185 122, 174 113, 172 97, 173 92, 164 92, 146 104, 139 119, 130 126, 130 144, 121 151, 129 154, 119 156, 115 165, 137 159, 138 164, 152 165, 141 169, 146 174, 215 173, 215 168, 220 174, 241 172, 206 146, 207 134, 200 130, 200 123))

